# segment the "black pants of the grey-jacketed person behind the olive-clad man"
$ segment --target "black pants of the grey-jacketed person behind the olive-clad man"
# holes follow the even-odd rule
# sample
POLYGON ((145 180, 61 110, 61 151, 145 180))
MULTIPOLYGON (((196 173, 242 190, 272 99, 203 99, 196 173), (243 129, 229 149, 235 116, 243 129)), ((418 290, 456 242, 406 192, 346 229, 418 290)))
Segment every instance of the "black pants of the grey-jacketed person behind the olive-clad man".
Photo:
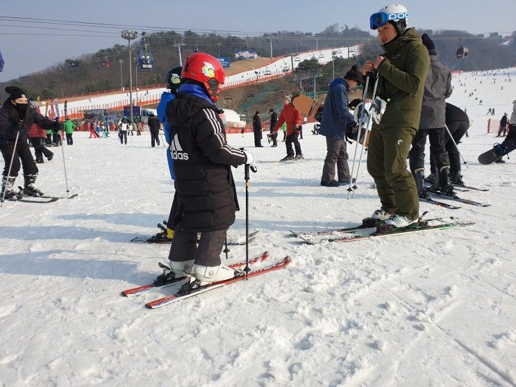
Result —
POLYGON ((435 166, 441 170, 444 166, 449 166, 450 161, 448 152, 446 151, 446 129, 419 129, 412 140, 412 148, 408 152, 408 161, 410 171, 415 172, 424 168, 424 147, 426 145, 426 136, 430 139, 430 157, 433 158, 435 166))

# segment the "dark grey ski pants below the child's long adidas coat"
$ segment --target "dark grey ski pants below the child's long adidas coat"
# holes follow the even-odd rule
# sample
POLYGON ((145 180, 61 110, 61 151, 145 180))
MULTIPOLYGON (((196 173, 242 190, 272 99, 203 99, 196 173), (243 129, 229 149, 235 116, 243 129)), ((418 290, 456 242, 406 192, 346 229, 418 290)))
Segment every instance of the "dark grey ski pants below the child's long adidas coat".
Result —
POLYGON ((214 267, 220 265, 220 253, 228 229, 203 232, 197 246, 197 231, 174 231, 169 260, 174 262, 194 259, 196 265, 214 267))

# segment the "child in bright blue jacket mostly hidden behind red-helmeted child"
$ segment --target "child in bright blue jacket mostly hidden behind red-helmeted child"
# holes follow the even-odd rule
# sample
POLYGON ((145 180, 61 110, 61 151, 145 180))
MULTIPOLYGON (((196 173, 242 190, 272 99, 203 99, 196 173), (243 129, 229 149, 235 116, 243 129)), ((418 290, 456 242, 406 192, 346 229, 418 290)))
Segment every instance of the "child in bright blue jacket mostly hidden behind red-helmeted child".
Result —
MULTIPOLYGON (((169 89, 170 91, 164 91, 163 94, 161 94, 160 103, 158 104, 157 108, 158 119, 160 120, 160 122, 164 123, 165 140, 169 145, 169 147, 167 148, 167 161, 169 165, 170 177, 172 178, 172 180, 176 179, 176 175, 174 174, 174 160, 172 159, 172 149, 170 148, 170 124, 167 120, 167 112, 165 111, 165 109, 167 108, 167 104, 174 98, 176 98, 177 90, 179 86, 181 86, 181 71, 182 67, 177 66, 170 69, 167 73, 166 83, 167 89, 169 89)), ((167 221, 167 224, 172 224, 172 220, 174 219, 177 212, 177 195, 176 193, 174 193, 174 200, 172 201, 172 207, 170 208, 169 219, 167 221)), ((167 231, 156 234, 156 238, 172 239, 173 237, 174 230, 170 229, 169 226, 167 226, 167 231)))

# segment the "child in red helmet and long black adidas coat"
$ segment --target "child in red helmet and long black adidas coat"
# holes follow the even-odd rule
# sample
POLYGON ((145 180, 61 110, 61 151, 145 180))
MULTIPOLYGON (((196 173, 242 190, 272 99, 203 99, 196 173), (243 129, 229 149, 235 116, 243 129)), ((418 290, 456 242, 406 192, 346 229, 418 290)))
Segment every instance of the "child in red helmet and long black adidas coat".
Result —
POLYGON ((192 54, 183 65, 181 83, 166 108, 178 205, 168 225, 174 230, 169 260, 174 274, 192 275, 190 286, 202 286, 235 275, 220 261, 238 210, 231 166, 253 164, 254 158, 226 142, 222 110, 215 105, 224 83, 219 61, 207 53, 192 54))

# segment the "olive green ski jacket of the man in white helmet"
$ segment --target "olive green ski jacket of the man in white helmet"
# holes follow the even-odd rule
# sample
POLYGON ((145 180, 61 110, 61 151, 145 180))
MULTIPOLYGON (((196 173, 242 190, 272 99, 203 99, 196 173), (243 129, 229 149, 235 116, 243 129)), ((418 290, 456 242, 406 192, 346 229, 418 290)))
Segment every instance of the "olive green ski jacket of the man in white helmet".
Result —
MULTIPOLYGON (((383 44, 385 60, 378 66, 376 95, 387 101, 380 129, 390 126, 419 127, 424 83, 430 56, 415 28, 383 44)), ((369 97, 374 82, 369 82, 369 97)))

